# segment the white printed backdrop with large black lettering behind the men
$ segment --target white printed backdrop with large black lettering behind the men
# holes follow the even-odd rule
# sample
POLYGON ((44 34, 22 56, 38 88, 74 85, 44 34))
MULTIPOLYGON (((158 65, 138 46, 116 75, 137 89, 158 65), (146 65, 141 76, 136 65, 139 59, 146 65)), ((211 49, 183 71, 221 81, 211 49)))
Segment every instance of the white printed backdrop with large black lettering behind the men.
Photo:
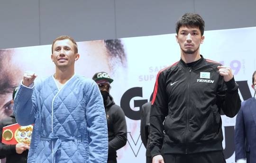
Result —
MULTIPOLYGON (((206 31, 204 35, 200 49, 204 58, 231 67, 242 101, 254 95, 250 85, 256 70, 256 27, 206 31)), ((140 108, 150 100, 157 72, 180 60, 175 34, 79 42, 78 52, 81 58, 75 65, 77 74, 91 78, 95 72, 106 71, 114 79, 110 94, 125 112, 128 125, 128 141, 118 151, 118 162, 146 162, 146 149, 140 139, 140 108)), ((12 112, 12 106, 6 104, 26 70, 36 72, 38 77, 53 75, 51 45, 0 51, 0 119, 12 112)), ((221 118, 224 154, 227 163, 235 163, 236 117, 221 118)))

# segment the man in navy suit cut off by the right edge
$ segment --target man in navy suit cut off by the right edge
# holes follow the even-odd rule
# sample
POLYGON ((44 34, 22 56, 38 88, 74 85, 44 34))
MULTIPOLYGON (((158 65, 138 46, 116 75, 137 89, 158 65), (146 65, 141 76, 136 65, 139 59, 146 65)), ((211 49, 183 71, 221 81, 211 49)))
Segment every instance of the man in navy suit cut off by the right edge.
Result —
MULTIPOLYGON (((256 92, 256 71, 252 77, 256 92)), ((256 96, 242 102, 235 128, 235 152, 237 163, 256 163, 256 96)))

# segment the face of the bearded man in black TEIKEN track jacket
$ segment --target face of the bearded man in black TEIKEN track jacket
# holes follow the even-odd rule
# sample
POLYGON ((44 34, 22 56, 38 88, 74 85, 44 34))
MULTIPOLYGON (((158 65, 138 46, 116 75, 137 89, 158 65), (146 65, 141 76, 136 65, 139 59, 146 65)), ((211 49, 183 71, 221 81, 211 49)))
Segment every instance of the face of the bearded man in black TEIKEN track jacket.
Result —
POLYGON ((181 26, 176 35, 181 50, 186 54, 193 54, 198 51, 200 44, 203 43, 204 36, 201 36, 199 27, 181 26))

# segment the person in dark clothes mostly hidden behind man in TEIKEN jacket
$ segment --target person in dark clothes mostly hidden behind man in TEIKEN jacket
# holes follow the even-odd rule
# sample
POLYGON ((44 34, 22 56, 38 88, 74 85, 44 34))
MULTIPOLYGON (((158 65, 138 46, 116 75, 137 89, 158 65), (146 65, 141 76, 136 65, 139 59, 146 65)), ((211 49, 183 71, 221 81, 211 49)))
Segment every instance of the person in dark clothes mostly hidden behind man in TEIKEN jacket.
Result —
POLYGON ((140 119, 140 137, 146 147, 146 163, 152 163, 151 154, 148 148, 149 144, 149 115, 150 115, 151 102, 142 105, 141 119, 140 119))

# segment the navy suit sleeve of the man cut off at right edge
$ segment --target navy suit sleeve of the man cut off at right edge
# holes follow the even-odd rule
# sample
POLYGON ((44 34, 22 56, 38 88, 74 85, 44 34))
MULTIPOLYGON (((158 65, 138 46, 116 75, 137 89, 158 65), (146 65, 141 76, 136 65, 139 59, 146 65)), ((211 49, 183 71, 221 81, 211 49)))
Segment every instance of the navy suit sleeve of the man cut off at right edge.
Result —
MULTIPOLYGON (((243 106, 242 106, 243 107, 243 106)), ((235 155, 236 161, 241 158, 246 158, 245 154, 245 123, 244 123, 244 115, 243 108, 241 107, 238 112, 236 119, 236 127, 235 127, 235 155)))

